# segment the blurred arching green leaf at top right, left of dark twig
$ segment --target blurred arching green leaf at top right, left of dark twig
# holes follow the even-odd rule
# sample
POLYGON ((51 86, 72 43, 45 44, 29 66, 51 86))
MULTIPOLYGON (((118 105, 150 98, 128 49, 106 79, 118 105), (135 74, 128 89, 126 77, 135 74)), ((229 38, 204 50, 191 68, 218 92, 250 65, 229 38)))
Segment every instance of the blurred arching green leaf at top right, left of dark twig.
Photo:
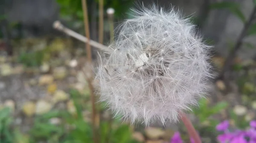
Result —
POLYGON ((220 3, 212 3, 210 5, 211 9, 228 9, 234 15, 236 15, 242 22, 245 22, 244 14, 240 10, 240 6, 235 2, 220 2, 220 3))

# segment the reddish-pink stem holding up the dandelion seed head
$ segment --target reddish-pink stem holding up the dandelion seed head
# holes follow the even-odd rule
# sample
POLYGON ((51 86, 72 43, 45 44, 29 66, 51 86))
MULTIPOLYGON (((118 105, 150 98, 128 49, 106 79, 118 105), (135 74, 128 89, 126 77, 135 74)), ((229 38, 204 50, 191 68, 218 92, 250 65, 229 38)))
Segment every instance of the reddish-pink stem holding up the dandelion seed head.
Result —
POLYGON ((195 143, 202 143, 198 133, 185 113, 182 114, 181 120, 188 130, 189 136, 194 139, 195 143))

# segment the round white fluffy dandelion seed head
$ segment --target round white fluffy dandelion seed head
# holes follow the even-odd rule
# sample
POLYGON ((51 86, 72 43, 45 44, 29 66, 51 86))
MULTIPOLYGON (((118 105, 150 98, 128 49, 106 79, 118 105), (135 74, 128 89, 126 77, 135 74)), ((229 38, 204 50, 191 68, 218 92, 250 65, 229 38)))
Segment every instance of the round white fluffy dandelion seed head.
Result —
POLYGON ((210 47, 179 11, 142 8, 119 27, 96 73, 100 100, 124 119, 176 122, 208 89, 210 47))

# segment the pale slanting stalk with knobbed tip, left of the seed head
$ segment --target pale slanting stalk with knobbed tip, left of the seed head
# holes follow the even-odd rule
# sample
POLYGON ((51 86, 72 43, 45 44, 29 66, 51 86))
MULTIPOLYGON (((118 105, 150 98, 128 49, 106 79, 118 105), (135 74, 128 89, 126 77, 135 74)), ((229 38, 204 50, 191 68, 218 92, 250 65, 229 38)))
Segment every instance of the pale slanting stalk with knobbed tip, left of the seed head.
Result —
POLYGON ((69 28, 66 28, 64 25, 61 24, 61 22, 59 21, 55 21, 53 23, 53 27, 59 31, 62 31, 64 32, 65 34, 69 35, 69 36, 72 36, 76 39, 78 39, 79 41, 81 42, 84 42, 84 43, 89 43, 91 46, 95 47, 95 48, 98 48, 99 50, 102 50, 102 51, 105 51, 105 52, 111 52, 112 49, 108 48, 107 46, 105 45, 102 45, 96 41, 93 41, 89 38, 86 38, 85 36, 82 36, 81 34, 78 34, 76 33, 75 31, 69 29, 69 28))

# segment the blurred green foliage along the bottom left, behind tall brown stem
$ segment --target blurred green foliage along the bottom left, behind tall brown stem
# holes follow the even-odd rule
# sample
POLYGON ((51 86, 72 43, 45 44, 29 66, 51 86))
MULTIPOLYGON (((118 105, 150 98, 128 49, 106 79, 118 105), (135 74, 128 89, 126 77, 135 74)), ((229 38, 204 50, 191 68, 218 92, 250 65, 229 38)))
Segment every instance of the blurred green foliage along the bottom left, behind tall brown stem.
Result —
MULTIPOLYGON (((12 129, 13 118, 11 110, 0 110, 0 143, 93 143, 91 123, 84 120, 83 106, 79 103, 81 95, 77 90, 71 90, 70 96, 76 107, 76 115, 63 110, 52 110, 34 118, 33 126, 28 135, 18 129, 12 129), (61 118, 61 123, 52 124, 52 118, 61 118), (17 141, 18 140, 18 141, 17 141)), ((100 143, 137 143, 133 140, 132 131, 128 124, 113 122, 116 127, 109 128, 108 121, 100 123, 100 143)))

